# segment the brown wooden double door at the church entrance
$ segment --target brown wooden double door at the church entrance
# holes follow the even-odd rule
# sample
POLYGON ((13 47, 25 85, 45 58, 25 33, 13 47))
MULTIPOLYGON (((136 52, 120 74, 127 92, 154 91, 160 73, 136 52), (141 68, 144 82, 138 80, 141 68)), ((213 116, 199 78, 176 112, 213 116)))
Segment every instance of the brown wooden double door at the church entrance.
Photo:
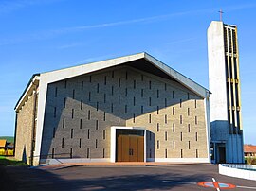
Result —
POLYGON ((117 142, 118 162, 144 162, 144 136, 119 134, 117 142))

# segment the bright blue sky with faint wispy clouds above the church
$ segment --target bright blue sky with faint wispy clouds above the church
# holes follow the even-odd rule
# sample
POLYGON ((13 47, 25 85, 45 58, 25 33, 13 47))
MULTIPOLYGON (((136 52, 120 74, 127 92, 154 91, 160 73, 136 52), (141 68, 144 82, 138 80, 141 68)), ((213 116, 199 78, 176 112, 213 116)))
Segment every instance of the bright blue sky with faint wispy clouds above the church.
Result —
POLYGON ((207 28, 238 26, 245 143, 256 145, 256 1, 0 0, 0 136, 32 74, 146 51, 208 88, 207 28))

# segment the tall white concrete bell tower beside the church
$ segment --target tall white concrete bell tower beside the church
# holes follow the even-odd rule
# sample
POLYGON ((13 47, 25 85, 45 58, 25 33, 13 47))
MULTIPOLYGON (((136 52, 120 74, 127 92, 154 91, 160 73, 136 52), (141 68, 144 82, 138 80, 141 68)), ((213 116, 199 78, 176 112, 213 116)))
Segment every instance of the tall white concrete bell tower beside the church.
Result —
POLYGON ((213 163, 244 163, 237 27, 208 28, 210 136, 213 163))

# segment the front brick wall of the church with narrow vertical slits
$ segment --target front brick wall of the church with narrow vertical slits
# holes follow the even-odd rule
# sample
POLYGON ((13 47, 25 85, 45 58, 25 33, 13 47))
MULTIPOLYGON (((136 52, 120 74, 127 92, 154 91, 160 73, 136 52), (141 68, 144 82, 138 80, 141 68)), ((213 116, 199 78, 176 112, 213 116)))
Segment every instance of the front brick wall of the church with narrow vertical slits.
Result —
POLYGON ((208 160, 204 99, 173 80, 128 66, 48 85, 41 155, 110 158, 111 126, 150 131, 149 160, 208 160))

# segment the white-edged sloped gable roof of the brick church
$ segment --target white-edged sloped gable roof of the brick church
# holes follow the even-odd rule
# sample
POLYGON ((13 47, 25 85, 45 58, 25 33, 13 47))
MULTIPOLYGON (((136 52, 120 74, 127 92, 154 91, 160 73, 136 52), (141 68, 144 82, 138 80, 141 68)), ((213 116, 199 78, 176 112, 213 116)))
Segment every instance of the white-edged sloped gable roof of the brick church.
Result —
MULTIPOLYGON (((65 78, 74 78, 77 76, 81 76, 84 74, 88 74, 91 72, 99 71, 105 68, 115 67, 121 64, 127 64, 132 67, 136 67, 139 70, 143 70, 145 72, 151 72, 155 75, 162 76, 163 78, 169 78, 178 83, 181 83, 183 86, 190 89, 196 95, 201 97, 209 97, 210 91, 203 86, 199 85, 198 83, 194 82, 191 78, 187 78, 180 74, 179 72, 175 71, 170 66, 166 65, 165 63, 156 60, 153 56, 149 55, 146 52, 137 53, 134 55, 128 55, 124 57, 119 57, 115 59, 105 60, 105 61, 96 61, 91 63, 86 63, 82 65, 77 65, 73 67, 68 67, 64 69, 54 70, 50 72, 45 72, 41 74, 33 75, 33 78, 37 78, 39 81, 44 78, 46 84, 64 80, 65 78)), ((27 89, 29 89, 28 83, 27 89)), ((27 94, 27 89, 24 91, 23 96, 19 99, 15 106, 15 110, 19 108, 19 105, 23 103, 23 97, 27 94)))

